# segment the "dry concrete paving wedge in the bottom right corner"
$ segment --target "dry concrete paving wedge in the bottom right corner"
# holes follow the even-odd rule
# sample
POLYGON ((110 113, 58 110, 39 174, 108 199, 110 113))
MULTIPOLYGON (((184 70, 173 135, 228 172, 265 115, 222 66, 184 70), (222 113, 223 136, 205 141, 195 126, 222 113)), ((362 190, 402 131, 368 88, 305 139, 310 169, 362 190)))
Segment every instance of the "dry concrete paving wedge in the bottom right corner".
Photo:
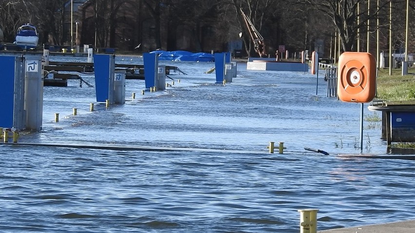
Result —
POLYGON ((318 233, 414 233, 414 232, 415 232, 415 220, 318 231, 318 233))

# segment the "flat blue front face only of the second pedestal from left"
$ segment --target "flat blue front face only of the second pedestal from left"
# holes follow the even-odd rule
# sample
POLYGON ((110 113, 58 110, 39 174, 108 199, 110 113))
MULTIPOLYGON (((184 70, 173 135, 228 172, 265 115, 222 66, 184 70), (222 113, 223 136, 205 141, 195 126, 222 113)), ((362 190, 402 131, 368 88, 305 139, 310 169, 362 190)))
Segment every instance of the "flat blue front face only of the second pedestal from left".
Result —
POLYGON ((96 102, 105 102, 110 95, 110 56, 94 54, 96 102))

